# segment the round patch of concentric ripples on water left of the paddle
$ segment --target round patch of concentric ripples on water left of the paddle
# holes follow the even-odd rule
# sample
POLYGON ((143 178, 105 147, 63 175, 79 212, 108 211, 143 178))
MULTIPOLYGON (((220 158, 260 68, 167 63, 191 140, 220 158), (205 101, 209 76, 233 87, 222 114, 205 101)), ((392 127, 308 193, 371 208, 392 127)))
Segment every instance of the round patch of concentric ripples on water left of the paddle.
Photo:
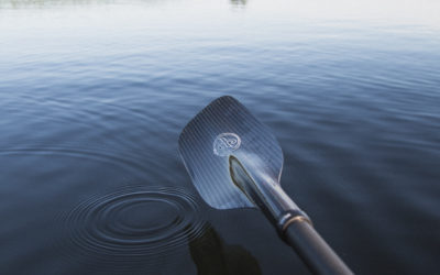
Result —
POLYGON ((175 187, 124 187, 92 196, 62 217, 73 249, 68 254, 112 270, 155 264, 204 232, 197 210, 198 200, 175 187))

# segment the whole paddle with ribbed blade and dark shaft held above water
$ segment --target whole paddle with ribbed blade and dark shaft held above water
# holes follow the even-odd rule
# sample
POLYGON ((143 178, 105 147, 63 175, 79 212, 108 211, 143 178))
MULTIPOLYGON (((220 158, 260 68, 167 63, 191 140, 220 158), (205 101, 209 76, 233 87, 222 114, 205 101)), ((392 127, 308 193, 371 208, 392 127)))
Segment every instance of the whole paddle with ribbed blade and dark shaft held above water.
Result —
POLYGON ((185 127, 178 143, 185 167, 208 205, 258 208, 315 274, 352 274, 282 189, 282 148, 238 100, 227 96, 212 101, 185 127))

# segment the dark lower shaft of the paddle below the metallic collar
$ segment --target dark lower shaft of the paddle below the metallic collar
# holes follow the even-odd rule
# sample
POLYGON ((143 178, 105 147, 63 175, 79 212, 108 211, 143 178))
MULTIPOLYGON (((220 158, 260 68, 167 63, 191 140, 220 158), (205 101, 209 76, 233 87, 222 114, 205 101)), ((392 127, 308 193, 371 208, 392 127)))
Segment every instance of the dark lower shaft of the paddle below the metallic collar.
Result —
POLYGON ((292 222, 284 235, 286 242, 295 249, 314 274, 353 274, 308 221, 292 222))

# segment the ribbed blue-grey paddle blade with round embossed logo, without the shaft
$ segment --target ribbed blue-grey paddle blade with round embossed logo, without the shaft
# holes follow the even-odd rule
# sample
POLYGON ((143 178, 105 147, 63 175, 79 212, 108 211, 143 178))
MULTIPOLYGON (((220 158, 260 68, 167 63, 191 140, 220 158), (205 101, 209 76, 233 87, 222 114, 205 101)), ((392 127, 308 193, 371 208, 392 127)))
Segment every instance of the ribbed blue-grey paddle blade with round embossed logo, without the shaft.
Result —
POLYGON ((232 97, 216 99, 185 127, 179 152, 200 196, 217 209, 255 207, 231 179, 230 155, 255 179, 279 183, 283 152, 278 142, 232 97))

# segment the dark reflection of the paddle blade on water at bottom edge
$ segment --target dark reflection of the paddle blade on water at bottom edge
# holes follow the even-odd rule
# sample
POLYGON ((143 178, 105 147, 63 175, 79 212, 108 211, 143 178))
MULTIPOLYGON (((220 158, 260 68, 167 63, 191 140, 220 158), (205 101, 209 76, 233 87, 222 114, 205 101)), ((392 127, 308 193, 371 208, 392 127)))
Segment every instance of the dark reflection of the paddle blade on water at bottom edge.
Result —
POLYGON ((189 251, 200 275, 262 274, 258 262, 249 251, 226 244, 212 227, 189 242, 189 251))

